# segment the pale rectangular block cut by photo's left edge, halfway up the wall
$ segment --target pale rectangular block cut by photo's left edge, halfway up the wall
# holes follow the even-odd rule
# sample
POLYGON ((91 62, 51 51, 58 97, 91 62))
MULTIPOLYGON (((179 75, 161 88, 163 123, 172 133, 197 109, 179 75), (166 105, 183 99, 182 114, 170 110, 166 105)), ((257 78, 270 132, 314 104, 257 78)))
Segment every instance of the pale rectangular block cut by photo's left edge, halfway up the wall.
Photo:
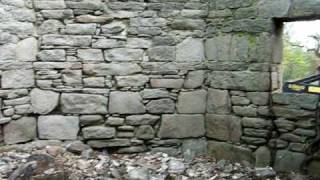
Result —
POLYGON ((8 70, 2 73, 2 88, 29 88, 34 84, 33 70, 8 70))

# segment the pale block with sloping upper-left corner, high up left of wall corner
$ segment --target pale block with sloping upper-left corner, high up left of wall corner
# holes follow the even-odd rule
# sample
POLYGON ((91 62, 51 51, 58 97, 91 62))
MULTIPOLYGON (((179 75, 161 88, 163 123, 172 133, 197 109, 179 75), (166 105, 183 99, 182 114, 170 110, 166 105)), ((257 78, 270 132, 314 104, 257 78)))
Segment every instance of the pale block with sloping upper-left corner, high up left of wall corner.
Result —
POLYGON ((177 45, 177 61, 203 61, 204 45, 201 39, 187 38, 177 45))

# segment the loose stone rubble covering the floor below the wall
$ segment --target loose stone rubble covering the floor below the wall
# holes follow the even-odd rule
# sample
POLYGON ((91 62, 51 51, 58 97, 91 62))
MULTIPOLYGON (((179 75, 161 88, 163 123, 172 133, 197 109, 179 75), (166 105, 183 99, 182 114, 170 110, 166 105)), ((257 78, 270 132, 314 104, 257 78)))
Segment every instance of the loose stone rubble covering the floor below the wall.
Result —
POLYGON ((164 153, 108 154, 76 142, 33 142, 0 147, 0 179, 9 180, 228 180, 308 179, 280 177, 272 168, 251 168, 198 157, 186 161, 164 153))

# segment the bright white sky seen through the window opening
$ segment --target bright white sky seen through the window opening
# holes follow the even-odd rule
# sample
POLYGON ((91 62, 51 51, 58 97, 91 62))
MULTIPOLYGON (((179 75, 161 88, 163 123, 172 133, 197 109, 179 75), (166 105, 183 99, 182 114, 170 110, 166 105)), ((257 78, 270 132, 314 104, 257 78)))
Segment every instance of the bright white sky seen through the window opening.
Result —
POLYGON ((285 23, 285 31, 289 33, 290 42, 312 49, 316 46, 316 42, 309 36, 320 35, 320 20, 288 22, 285 23))

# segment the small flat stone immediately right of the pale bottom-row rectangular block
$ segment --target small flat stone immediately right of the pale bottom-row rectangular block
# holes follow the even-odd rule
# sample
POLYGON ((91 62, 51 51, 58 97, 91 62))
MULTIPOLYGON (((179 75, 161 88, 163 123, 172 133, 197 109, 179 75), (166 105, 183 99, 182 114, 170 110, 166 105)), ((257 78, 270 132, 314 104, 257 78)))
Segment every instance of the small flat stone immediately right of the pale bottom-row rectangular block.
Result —
POLYGON ((110 139, 116 135, 116 129, 104 126, 90 126, 82 129, 85 139, 110 139))

